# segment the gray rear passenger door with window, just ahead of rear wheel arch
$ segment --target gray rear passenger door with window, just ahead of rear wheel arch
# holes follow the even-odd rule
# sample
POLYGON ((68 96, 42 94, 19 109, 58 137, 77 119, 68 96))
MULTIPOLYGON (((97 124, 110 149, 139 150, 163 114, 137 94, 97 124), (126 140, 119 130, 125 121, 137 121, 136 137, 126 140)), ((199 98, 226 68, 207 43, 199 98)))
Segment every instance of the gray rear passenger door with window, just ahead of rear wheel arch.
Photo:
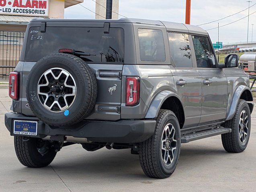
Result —
POLYGON ((197 126, 201 116, 202 80, 197 69, 193 68, 192 39, 188 34, 174 32, 168 32, 168 39, 175 91, 184 105, 184 128, 197 126))

